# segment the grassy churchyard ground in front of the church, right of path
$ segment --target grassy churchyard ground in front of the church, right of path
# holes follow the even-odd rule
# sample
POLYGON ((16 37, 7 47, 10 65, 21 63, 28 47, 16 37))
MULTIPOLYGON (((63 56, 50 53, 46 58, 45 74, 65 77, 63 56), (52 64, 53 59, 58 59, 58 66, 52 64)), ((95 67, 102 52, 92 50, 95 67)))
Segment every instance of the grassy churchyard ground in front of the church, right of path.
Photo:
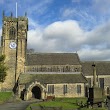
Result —
POLYGON ((107 110, 107 108, 87 108, 87 98, 57 98, 30 104, 26 110, 107 110))

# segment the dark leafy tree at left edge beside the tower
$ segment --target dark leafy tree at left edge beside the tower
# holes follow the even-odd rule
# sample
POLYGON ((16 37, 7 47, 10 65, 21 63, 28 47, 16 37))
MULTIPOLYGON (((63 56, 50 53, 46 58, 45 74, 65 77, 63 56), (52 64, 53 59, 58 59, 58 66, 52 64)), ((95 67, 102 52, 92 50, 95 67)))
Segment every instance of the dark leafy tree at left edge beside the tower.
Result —
POLYGON ((6 77, 7 67, 5 66, 4 60, 5 60, 5 55, 1 55, 0 56, 0 82, 4 82, 6 77))

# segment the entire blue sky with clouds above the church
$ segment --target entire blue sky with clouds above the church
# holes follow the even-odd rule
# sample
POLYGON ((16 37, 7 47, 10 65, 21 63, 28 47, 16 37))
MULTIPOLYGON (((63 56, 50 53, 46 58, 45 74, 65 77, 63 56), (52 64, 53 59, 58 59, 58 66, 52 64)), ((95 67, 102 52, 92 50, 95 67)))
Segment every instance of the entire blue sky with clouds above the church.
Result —
POLYGON ((81 60, 110 61, 110 0, 0 0, 2 11, 27 12, 28 48, 77 52, 81 60))

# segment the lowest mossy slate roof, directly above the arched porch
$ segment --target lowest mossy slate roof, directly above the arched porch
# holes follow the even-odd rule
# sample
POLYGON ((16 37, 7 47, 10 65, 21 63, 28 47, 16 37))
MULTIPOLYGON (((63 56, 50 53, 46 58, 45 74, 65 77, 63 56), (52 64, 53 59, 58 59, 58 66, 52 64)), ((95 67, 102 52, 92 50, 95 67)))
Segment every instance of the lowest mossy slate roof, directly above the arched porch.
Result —
POLYGON ((81 74, 29 74, 24 73, 19 77, 19 84, 28 84, 33 81, 41 84, 59 84, 59 83, 86 83, 86 78, 81 74))

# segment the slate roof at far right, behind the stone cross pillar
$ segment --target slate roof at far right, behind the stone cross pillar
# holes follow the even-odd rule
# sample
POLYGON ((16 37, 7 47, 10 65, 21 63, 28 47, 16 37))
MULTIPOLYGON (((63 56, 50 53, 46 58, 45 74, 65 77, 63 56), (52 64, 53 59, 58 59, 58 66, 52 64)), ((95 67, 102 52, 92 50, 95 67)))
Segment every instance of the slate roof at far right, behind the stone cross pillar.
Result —
MULTIPOLYGON (((93 75, 93 61, 82 62, 82 72, 85 76, 93 75)), ((95 61, 97 75, 110 75, 110 62, 95 61)))

